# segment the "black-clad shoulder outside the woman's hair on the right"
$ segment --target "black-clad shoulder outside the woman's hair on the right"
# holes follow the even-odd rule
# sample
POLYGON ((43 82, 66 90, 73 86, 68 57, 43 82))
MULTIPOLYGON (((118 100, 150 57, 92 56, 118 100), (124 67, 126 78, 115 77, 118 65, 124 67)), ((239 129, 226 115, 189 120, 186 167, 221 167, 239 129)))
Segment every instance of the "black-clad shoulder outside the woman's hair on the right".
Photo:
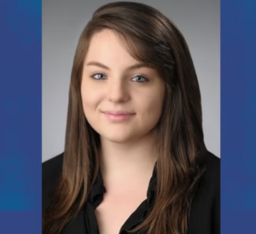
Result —
POLYGON ((193 198, 189 234, 217 234, 220 229, 220 158, 207 151, 204 159, 206 170, 193 198))

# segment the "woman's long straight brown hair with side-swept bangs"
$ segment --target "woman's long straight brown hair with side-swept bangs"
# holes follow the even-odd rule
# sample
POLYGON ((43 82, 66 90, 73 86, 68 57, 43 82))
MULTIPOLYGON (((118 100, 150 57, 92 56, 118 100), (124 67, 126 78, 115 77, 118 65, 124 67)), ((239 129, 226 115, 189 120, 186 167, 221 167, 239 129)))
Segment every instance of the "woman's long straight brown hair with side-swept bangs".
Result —
POLYGON ((157 9, 143 3, 108 3, 97 9, 79 38, 69 89, 62 174, 43 233, 58 234, 75 218, 99 171, 99 134, 84 117, 81 79, 90 38, 110 29, 135 59, 154 66, 166 83, 158 129, 159 158, 154 206, 133 231, 181 234, 188 231, 192 198, 204 172, 201 94, 183 35, 157 9))

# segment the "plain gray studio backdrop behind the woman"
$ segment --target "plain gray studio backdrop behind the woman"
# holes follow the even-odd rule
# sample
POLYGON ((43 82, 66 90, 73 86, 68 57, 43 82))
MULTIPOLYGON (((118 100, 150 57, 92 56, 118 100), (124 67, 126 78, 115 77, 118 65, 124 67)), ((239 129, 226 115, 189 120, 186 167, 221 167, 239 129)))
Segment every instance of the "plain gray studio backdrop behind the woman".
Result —
MULTIPOLYGON (((79 35, 93 12, 111 2, 43 0, 43 162, 64 150, 68 88, 79 35)), ((220 157, 219 0, 132 2, 159 9, 182 31, 201 87, 205 142, 220 157)))

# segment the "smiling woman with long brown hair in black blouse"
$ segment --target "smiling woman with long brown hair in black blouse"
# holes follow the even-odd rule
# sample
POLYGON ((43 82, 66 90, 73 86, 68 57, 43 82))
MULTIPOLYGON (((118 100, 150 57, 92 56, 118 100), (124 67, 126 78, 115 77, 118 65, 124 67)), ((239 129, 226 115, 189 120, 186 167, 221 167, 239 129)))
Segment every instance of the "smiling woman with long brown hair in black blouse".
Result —
POLYGON ((185 40, 142 3, 108 3, 73 60, 65 151, 43 163, 44 234, 219 233, 185 40))

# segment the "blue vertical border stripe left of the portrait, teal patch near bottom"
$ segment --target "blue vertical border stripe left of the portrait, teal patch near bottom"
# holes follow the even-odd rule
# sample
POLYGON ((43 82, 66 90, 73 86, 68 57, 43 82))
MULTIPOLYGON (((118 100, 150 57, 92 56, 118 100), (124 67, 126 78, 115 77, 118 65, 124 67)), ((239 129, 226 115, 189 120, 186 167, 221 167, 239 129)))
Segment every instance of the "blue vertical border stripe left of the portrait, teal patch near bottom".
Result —
POLYGON ((0 1, 0 233, 41 233, 41 5, 0 1))

